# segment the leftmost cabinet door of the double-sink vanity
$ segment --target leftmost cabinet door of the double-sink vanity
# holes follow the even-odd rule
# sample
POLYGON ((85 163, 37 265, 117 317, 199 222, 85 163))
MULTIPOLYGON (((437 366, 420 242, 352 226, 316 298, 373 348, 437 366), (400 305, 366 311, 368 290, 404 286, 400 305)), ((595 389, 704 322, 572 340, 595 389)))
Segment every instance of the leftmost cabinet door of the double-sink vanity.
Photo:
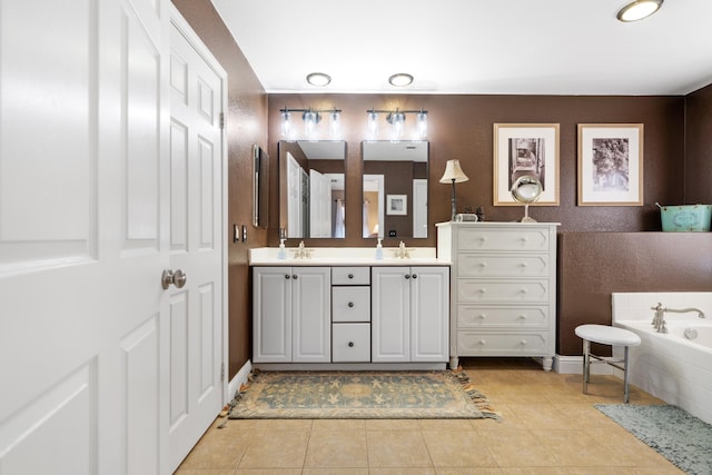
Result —
POLYGON ((291 362, 291 268, 255 267, 253 362, 291 362))

